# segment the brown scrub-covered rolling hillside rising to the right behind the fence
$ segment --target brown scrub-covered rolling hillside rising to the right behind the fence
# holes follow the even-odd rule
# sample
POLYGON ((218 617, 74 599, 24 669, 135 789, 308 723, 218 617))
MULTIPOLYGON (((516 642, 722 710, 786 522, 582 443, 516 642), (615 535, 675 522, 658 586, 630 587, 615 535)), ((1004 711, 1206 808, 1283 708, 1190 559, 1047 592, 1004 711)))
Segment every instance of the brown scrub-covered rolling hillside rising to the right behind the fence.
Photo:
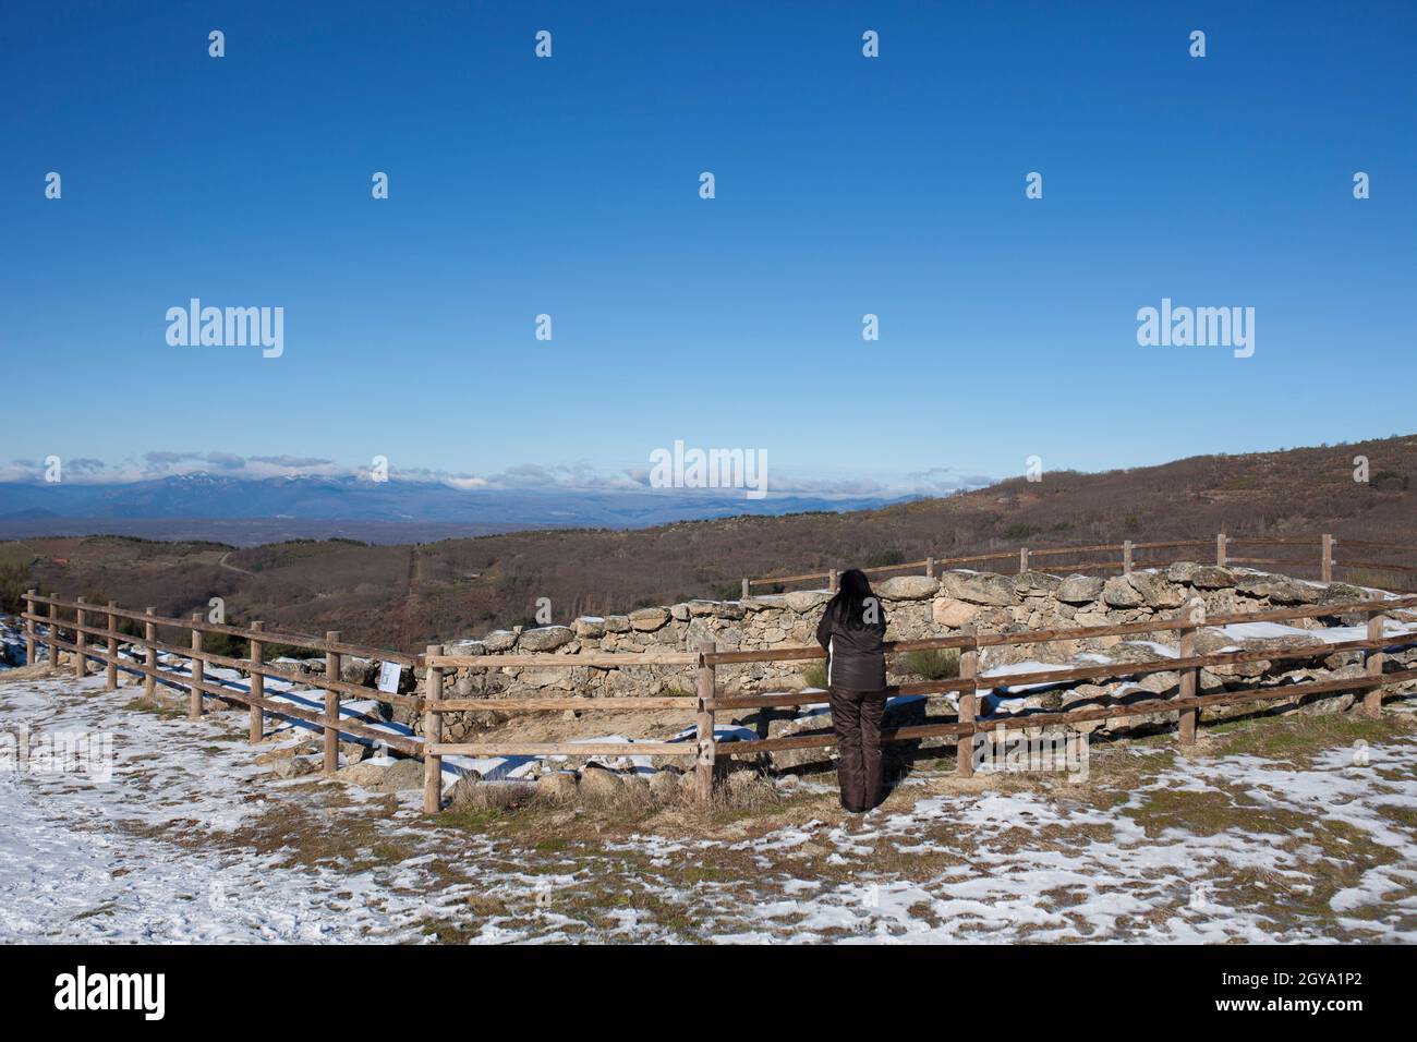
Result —
MULTIPOLYGON (((527 621, 689 597, 737 595, 743 576, 1122 539, 1316 534, 1417 543, 1417 435, 1102 474, 1010 479, 941 499, 853 512, 733 516, 642 529, 541 529, 370 546, 235 547, 132 537, 0 544, 9 590, 113 598, 186 614, 211 597, 238 622, 417 648, 527 621), (1369 481, 1355 481, 1355 456, 1369 481), (61 563, 62 561, 62 563, 61 563)), ((1411 561, 1408 561, 1411 563, 1411 561)))

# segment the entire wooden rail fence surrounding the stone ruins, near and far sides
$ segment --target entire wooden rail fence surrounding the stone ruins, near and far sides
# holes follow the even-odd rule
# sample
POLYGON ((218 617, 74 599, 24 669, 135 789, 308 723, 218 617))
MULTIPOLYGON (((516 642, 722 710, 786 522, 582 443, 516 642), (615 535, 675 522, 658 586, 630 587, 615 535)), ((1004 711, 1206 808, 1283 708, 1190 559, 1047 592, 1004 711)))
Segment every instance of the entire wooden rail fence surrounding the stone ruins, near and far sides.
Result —
MULTIPOLYGON (((1216 542, 1217 561, 1231 564, 1280 563, 1284 560, 1265 560, 1255 557, 1230 557, 1229 543, 1264 540, 1227 540, 1220 536, 1216 542)), ((1272 544, 1298 544, 1292 540, 1270 540, 1272 544)), ((1325 536, 1322 539, 1323 557, 1321 567, 1326 576, 1332 576, 1335 567, 1366 567, 1393 568, 1411 571, 1406 566, 1384 564, 1376 561, 1346 561, 1333 559, 1336 540, 1325 536)), ((1372 551, 1417 551, 1417 547, 1393 546, 1383 543, 1350 542, 1349 546, 1365 547, 1372 551)), ((1209 546, 1209 542, 1178 542, 1178 543, 1146 543, 1122 544, 1127 549, 1122 561, 1124 571, 1132 564, 1131 551, 1136 549, 1158 547, 1190 547, 1209 546)), ((1071 547, 1071 553, 1085 553, 1094 547, 1071 547)), ((1037 551, 1066 553, 1066 550, 1037 551)), ((1009 554, 1009 559, 1013 556, 1009 554)), ((952 559, 982 561, 995 560, 996 554, 981 554, 971 559, 952 559)), ((941 561, 934 561, 939 564, 941 561)), ((1029 556, 1023 551, 1020 566, 1027 568, 1029 556)), ((893 566, 894 568, 908 566, 893 566)), ((932 567, 930 568, 932 571, 932 567)), ((873 570, 873 571, 880 571, 873 570)), ((803 576, 799 578, 820 578, 826 573, 803 576)), ((788 577, 791 578, 791 577, 788 577)), ((788 581, 788 578, 764 581, 788 581)), ((750 580, 744 580, 748 583, 750 580)), ((757 580, 754 580, 757 581, 757 580)), ((1183 744, 1195 741, 1197 713, 1206 706, 1267 702, 1274 699, 1305 698, 1309 695, 1325 695, 1338 692, 1363 692, 1365 710, 1376 716, 1382 709, 1383 689, 1406 680, 1417 680, 1417 669, 1384 672, 1386 652, 1394 646, 1417 644, 1414 635, 1387 635, 1384 621, 1391 611, 1417 611, 1417 595, 1382 601, 1350 601, 1340 604, 1308 605, 1299 608, 1278 608, 1255 612, 1237 612, 1227 615, 1213 615, 1206 618, 1204 605, 1197 600, 1182 608, 1172 618, 1152 618, 1142 622, 1124 622, 1114 625, 1078 627, 1066 629, 1033 629, 1013 634, 981 634, 972 627, 949 637, 934 637, 915 641, 890 641, 886 644, 887 654, 931 651, 955 648, 959 651, 959 676, 942 680, 921 680, 900 683, 887 689, 887 695, 958 695, 958 713, 952 722, 928 723, 908 727, 897 727, 883 734, 886 741, 914 741, 921 739, 954 739, 956 747, 956 770, 972 774, 972 743, 976 734, 986 734, 1006 726, 1049 727, 1071 726, 1090 720, 1127 717, 1152 713, 1178 713, 1178 737, 1183 744), (1238 622, 1289 622, 1308 618, 1336 618, 1342 615, 1366 618, 1366 632, 1363 639, 1340 641, 1323 644, 1322 646, 1294 646, 1294 648, 1265 648, 1254 651, 1214 652, 1210 655, 1195 654, 1196 632, 1203 625, 1229 625, 1238 622), (1129 637, 1139 634, 1176 634, 1178 654, 1175 658, 1158 656, 1142 662, 1114 662, 1102 665, 1076 666, 1068 669, 1049 669, 1032 673, 1009 673, 999 676, 979 676, 979 655, 986 648, 1019 646, 1047 644, 1053 641, 1084 641, 1101 637, 1129 637), (1214 695, 1199 693, 1200 669, 1214 666, 1229 666, 1244 662, 1268 662, 1284 659, 1312 659, 1329 656, 1338 652, 1362 652, 1366 663, 1363 676, 1312 680, 1302 683, 1284 683, 1268 688, 1248 688, 1238 692, 1224 692, 1214 695), (1081 680, 1121 680, 1155 672, 1175 671, 1180 675, 1178 693, 1172 698, 1155 698, 1141 702, 1112 703, 1093 706, 1088 709, 1074 709, 1057 713, 1027 713, 1017 716, 1002 716, 981 720, 978 719, 978 692, 992 688, 1015 688, 1022 685, 1063 685, 1081 680)), ((830 733, 798 734, 788 737, 760 737, 757 740, 717 741, 714 724, 718 713, 728 710, 822 705, 826 700, 825 692, 789 690, 769 695, 723 695, 718 690, 717 668, 728 665, 743 665, 750 662, 806 662, 826 658, 826 652, 816 645, 779 646, 771 649, 720 649, 711 642, 700 644, 696 652, 677 654, 598 654, 585 655, 476 655, 456 656, 445 655, 442 645, 429 645, 422 655, 405 655, 381 648, 367 648, 341 644, 339 632, 326 634, 323 641, 303 634, 285 634, 268 631, 261 622, 252 622, 249 628, 239 628, 201 620, 196 612, 191 620, 163 618, 156 615, 153 608, 143 612, 118 607, 109 601, 106 605, 88 604, 82 598, 67 601, 55 597, 40 597, 34 590, 26 594, 26 649, 30 662, 35 659, 37 645, 47 645, 50 662, 58 662, 61 649, 74 652, 75 673, 82 676, 85 661, 96 659, 106 665, 106 686, 118 686, 118 671, 137 672, 145 678, 147 693, 154 690, 157 682, 186 688, 190 692, 188 716, 200 717, 203 713, 203 698, 217 698, 247 705, 251 710, 251 740, 259 741, 264 736, 265 715, 283 716, 293 720, 303 720, 322 729, 324 736, 326 771, 334 771, 339 766, 339 736, 347 733, 356 737, 384 743, 390 749, 405 756, 421 757, 425 764, 424 773, 424 808, 434 812, 441 807, 442 800, 442 760, 446 756, 679 756, 690 760, 696 773, 696 792, 706 798, 711 792, 714 763, 718 756, 757 756, 788 749, 826 749, 835 744, 830 733), (48 612, 41 615, 37 605, 47 605, 48 612), (74 612, 72 621, 61 618, 60 610, 74 612), (91 621, 102 617, 105 625, 95 627, 91 621), (139 663, 123 661, 118 655, 120 634, 118 620, 132 620, 143 624, 143 637, 122 637, 122 642, 146 649, 146 661, 139 663), (40 632, 38 627, 45 627, 40 632), (159 627, 179 628, 190 631, 190 646, 164 644, 159 641, 159 627), (74 639, 64 639, 64 634, 72 634, 74 639), (225 634, 248 642, 248 658, 230 658, 215 655, 203 649, 204 634, 225 634), (91 642, 94 638, 95 642, 91 642), (309 651, 323 652, 326 656, 326 671, 319 682, 312 678, 278 669, 264 661, 264 646, 282 644, 309 651), (157 668, 157 652, 184 656, 191 662, 190 675, 173 673, 157 668), (359 655, 376 661, 397 662, 415 669, 425 669, 427 696, 400 696, 376 689, 347 683, 340 679, 343 656, 359 655), (244 671, 251 676, 249 689, 242 690, 227 685, 210 683, 204 671, 207 665, 244 671), (663 696, 663 698, 444 698, 444 679, 449 669, 623 669, 636 666, 683 666, 693 669, 696 675, 696 693, 691 696, 663 696), (268 678, 278 678, 292 683, 307 683, 312 688, 323 688, 323 713, 315 713, 283 702, 266 698, 264 683, 268 678), (422 713, 424 740, 412 736, 393 734, 387 730, 373 727, 347 717, 340 717, 340 698, 377 699, 380 702, 411 705, 414 713, 422 713), (540 712, 604 712, 604 710, 666 710, 682 709, 693 716, 693 741, 618 741, 618 743, 445 743, 442 741, 442 715, 476 710, 495 710, 497 713, 540 713, 540 712)))

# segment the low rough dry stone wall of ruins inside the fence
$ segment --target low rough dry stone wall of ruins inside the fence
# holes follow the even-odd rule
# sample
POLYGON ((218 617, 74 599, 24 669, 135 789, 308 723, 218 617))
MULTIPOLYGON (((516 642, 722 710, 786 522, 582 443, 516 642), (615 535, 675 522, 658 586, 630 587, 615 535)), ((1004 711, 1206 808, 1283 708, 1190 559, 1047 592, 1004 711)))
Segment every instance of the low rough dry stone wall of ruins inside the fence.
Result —
MULTIPOLYGON (((1128 576, 1098 578, 1094 576, 1056 576, 1024 571, 1002 576, 983 571, 945 571, 937 578, 898 576, 876 584, 876 594, 888 618, 888 639, 918 639, 958 634, 973 625, 981 632, 1023 632, 1029 629, 1068 629, 1117 622, 1139 622, 1173 615, 1195 597, 1204 601, 1207 614, 1263 611, 1267 608, 1322 605, 1343 601, 1382 598, 1379 590, 1346 583, 1311 583, 1246 568, 1214 564, 1178 563, 1163 570, 1138 570, 1128 576)), ((626 615, 581 617, 568 625, 497 629, 480 639, 453 639, 445 645, 449 655, 497 656, 509 654, 546 652, 575 656, 587 652, 665 654, 691 652, 700 642, 713 641, 720 648, 769 649, 811 645, 815 641, 822 607, 830 598, 825 590, 805 590, 786 594, 752 597, 741 601, 694 600, 665 607, 640 608, 626 615)), ((1417 614, 1399 612, 1417 620, 1417 614)), ((1281 635, 1246 637, 1237 639, 1219 629, 1207 628, 1197 635, 1202 654, 1223 648, 1298 646, 1312 644, 1315 658, 1284 662, 1253 662, 1202 671, 1204 693, 1237 689, 1244 685, 1294 682, 1301 679, 1331 679, 1362 672, 1357 652, 1328 654, 1316 635, 1301 631, 1323 625, 1357 625, 1365 617, 1326 617, 1299 620, 1281 635)), ((986 648, 981 652, 981 672, 1022 661, 1047 663, 1080 663, 1104 661, 1142 661, 1158 656, 1158 646, 1175 648, 1173 635, 1155 639, 1125 639, 1121 637, 1056 641, 1039 645, 986 648), (1081 661, 1078 656, 1084 656, 1081 661)), ((1403 652, 1399 662, 1406 661, 1403 652)), ((721 666, 718 685, 728 693, 754 693, 806 686, 813 678, 813 662, 745 663, 721 666)), ((888 680, 898 683, 921 679, 904 672, 917 665, 910 656, 890 659, 888 680)), ((424 685, 419 678, 419 685, 424 685)), ((1058 709, 1097 703, 1118 695, 1173 692, 1179 683, 1175 672, 1136 678, 1135 683, 1080 683, 1066 690, 1010 699, 1010 712, 1029 709, 1058 709)), ((639 666, 633 669, 601 669, 575 666, 570 669, 459 669, 449 673, 445 692, 451 698, 514 698, 533 693, 577 695, 584 698, 626 698, 665 693, 691 693, 691 666, 639 666)), ((1348 703, 1352 696, 1348 696, 1348 703)), ((1346 707, 1343 699, 1332 703, 1346 707)), ((925 707, 921 707, 924 712, 925 707)), ((1234 712, 1244 712, 1240 707, 1234 712)), ((419 720, 405 713, 407 723, 419 720)), ((459 741, 502 723, 495 712, 455 713, 444 717, 445 734, 459 741)), ((1101 722, 1087 729, 1107 730, 1114 722, 1101 722)), ((1117 720, 1117 727, 1132 726, 1117 720)), ((1139 720, 1145 724, 1146 720, 1139 720)), ((791 720, 775 720, 772 733, 791 727, 791 720)))

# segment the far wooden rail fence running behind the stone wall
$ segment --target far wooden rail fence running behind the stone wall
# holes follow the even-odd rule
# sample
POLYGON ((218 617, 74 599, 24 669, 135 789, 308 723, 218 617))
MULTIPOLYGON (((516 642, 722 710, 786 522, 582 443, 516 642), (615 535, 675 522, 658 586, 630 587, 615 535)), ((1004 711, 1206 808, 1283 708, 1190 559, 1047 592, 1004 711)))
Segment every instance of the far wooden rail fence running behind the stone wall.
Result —
MULTIPOLYGON (((981 564, 1013 564, 1019 566, 1019 571, 1027 571, 1029 568, 1053 570, 1061 568, 1066 571, 1119 571, 1121 574, 1129 574, 1134 567, 1139 568, 1153 568, 1165 567, 1168 564, 1175 564, 1182 560, 1196 560, 1195 556, 1153 556, 1155 551, 1162 550, 1204 550, 1207 554, 1210 549, 1214 547, 1216 564, 1282 564, 1289 568, 1316 568, 1319 578, 1323 583, 1333 581, 1335 568, 1353 570, 1367 570, 1367 571, 1393 571, 1403 576, 1408 576, 1417 571, 1417 567, 1411 564, 1399 564, 1393 561, 1372 561, 1372 560, 1339 560, 1335 557, 1333 551, 1339 546, 1339 540, 1331 534, 1322 536, 1227 536, 1226 533, 1219 533, 1213 540, 1210 539, 1180 539, 1169 543, 1134 543, 1132 540, 1125 540, 1122 543, 1098 543, 1095 546, 1053 546, 1053 547, 1037 547, 1029 549, 1027 546, 1020 546, 1017 550, 1005 550, 1000 553, 976 553, 968 554, 965 557, 925 557, 918 561, 901 561, 900 564, 883 564, 873 568, 862 568, 867 576, 890 576, 903 571, 924 571, 925 576, 934 577, 935 571, 939 568, 973 568, 981 564), (1231 547, 1297 547, 1309 551, 1309 557, 1253 557, 1233 553, 1231 547), (1114 554, 1112 560, 1095 560, 1098 554, 1114 554), (1145 556, 1145 560, 1138 560, 1138 554, 1145 556), (1054 563, 1054 557, 1090 557, 1091 560, 1081 561, 1063 561, 1054 563)), ((1397 546, 1393 543, 1373 543, 1357 539, 1343 540, 1343 547, 1353 547, 1355 550, 1374 550, 1379 553, 1417 553, 1417 546, 1397 546)), ((829 568, 826 571, 808 571, 796 576, 767 576, 762 578, 744 578, 743 580, 743 595, 751 597, 754 587, 764 586, 789 586, 796 583, 825 583, 828 590, 836 590, 836 580, 840 571, 837 568, 829 568)), ((1391 587, 1389 587, 1391 588, 1391 587)))

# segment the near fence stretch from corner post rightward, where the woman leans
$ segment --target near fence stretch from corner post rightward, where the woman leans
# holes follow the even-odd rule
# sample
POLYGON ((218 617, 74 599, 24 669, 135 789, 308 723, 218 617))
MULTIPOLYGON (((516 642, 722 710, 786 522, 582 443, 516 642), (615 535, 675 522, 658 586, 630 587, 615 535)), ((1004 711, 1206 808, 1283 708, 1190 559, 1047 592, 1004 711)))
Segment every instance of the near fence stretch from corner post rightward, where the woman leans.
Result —
MULTIPOLYGON (((956 749, 955 768, 969 775, 973 773, 972 741, 975 734, 985 734, 1006 726, 1019 727, 1049 727, 1071 726, 1088 720, 1104 720, 1125 716, 1141 716, 1151 713, 1178 713, 1178 734, 1182 744, 1192 744, 1196 740, 1197 713, 1204 706, 1230 705, 1240 702, 1268 702, 1274 699, 1305 698, 1309 695, 1338 693, 1348 690, 1365 692, 1365 710, 1370 716, 1377 716, 1382 710, 1382 690, 1384 686, 1404 680, 1417 680, 1417 669, 1397 672, 1383 672, 1386 651, 1394 646, 1417 644, 1417 634, 1393 635, 1384 634, 1386 612, 1400 610, 1417 610, 1417 597, 1403 597, 1384 601, 1349 601, 1342 604, 1325 604, 1305 608, 1282 608, 1272 611, 1250 611, 1226 615, 1206 617, 1204 607, 1196 601, 1183 608, 1175 618, 1148 620, 1145 622, 1121 622, 1101 627, 1078 627, 1071 629, 1034 629, 1022 634, 979 634, 966 627, 964 632, 952 637, 934 637, 920 641, 887 641, 886 652, 927 651, 937 648, 959 649, 959 676, 947 680, 921 680, 913 683, 893 685, 886 689, 890 696, 896 695, 944 695, 956 692, 959 698, 959 712, 955 722, 918 724, 911 727, 897 727, 883 733, 884 741, 914 741, 932 737, 954 737, 956 749), (1206 625, 1230 625, 1237 622, 1288 622, 1305 618, 1363 615, 1367 620, 1363 639, 1338 641, 1321 646, 1308 645, 1297 648, 1264 648, 1254 651, 1214 652, 1210 655, 1196 655, 1196 632, 1206 625), (1124 637, 1136 634, 1166 634, 1179 635, 1178 655, 1175 658, 1148 659, 1142 662, 1111 662, 1095 666, 1077 666, 1071 669, 1049 669, 1032 673, 1009 673, 1000 676, 981 678, 979 652, 983 648, 1019 646, 1032 644, 1046 644, 1051 641, 1081 641, 1098 637, 1124 637), (1312 659, 1326 658, 1339 652, 1360 651, 1365 655, 1366 672, 1362 678, 1338 680, 1311 680, 1304 683, 1275 685, 1270 688, 1250 688, 1240 692, 1224 692, 1216 695, 1200 695, 1199 678, 1203 668, 1229 666, 1241 662, 1271 662, 1282 659, 1312 659), (1156 672, 1179 672, 1180 685, 1172 698, 1156 698, 1141 702, 1114 703, 1090 709, 1077 709, 1060 713, 1029 713, 1020 716, 1003 716, 989 720, 978 719, 978 692, 989 688, 1013 688, 1019 685, 1058 685, 1076 683, 1080 680, 1119 680, 1132 676, 1156 672)), ((737 695, 720 696, 717 689, 716 671, 723 665, 741 665, 745 662, 806 662, 823 659, 826 652, 818 645, 771 648, 767 651, 718 651, 714 644, 701 644, 696 655, 531 655, 531 656, 452 656, 444 655, 442 648, 432 645, 424 656, 429 669, 429 700, 424 706, 424 733, 429 737, 428 767, 425 773, 424 809, 432 812, 438 809, 441 794, 439 777, 441 764, 438 757, 455 754, 475 756, 683 756, 693 757, 696 763, 696 791, 703 798, 707 797, 713 784, 714 761, 720 751, 726 756, 755 756, 786 749, 826 749, 836 744, 833 734, 801 734, 778 739, 758 739, 748 741, 718 743, 714 739, 714 723, 717 713, 734 709, 775 709, 784 706, 823 705, 825 692, 779 692, 771 695, 737 695), (510 659, 510 661, 509 661, 510 659), (699 683, 694 698, 666 698, 666 699, 442 699, 442 671, 444 669, 487 669, 502 665, 536 666, 536 668, 575 668, 599 666, 619 668, 635 665, 683 665, 697 669, 699 683), (475 743, 475 744, 444 744, 439 716, 446 712, 462 712, 469 709, 496 709, 497 712, 543 712, 553 709, 693 709, 694 712, 694 744, 683 741, 669 743, 616 743, 616 744, 575 744, 575 743, 544 743, 514 746, 504 743, 475 743)))

